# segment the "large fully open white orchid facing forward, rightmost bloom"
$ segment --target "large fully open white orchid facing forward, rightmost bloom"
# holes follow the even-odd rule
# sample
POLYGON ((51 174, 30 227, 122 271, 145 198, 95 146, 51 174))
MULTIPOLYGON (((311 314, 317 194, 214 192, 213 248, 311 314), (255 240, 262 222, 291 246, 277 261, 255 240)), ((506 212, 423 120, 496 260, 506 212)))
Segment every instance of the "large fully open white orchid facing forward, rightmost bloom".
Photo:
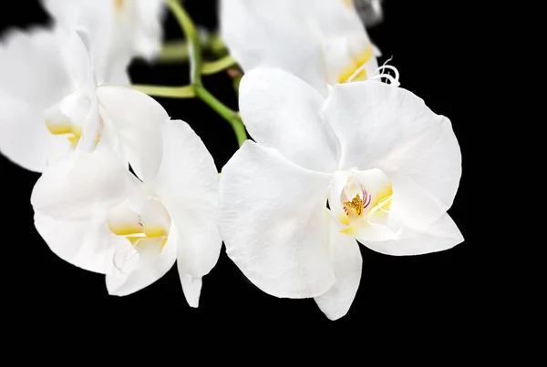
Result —
POLYGON ((257 68, 243 76, 240 109, 256 143, 222 168, 220 226, 228 256, 261 290, 313 297, 335 320, 359 285, 356 240, 388 255, 463 240, 446 213, 458 141, 408 90, 365 81, 324 99, 296 76, 257 68))

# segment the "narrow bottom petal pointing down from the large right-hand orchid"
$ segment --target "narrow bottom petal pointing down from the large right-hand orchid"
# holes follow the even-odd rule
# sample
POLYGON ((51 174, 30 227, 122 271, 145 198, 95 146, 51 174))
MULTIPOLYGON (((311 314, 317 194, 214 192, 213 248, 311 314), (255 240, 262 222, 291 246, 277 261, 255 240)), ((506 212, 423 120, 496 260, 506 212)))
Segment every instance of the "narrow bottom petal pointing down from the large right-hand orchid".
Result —
POLYGON ((330 320, 337 320, 346 315, 356 298, 361 281, 363 258, 357 241, 340 233, 330 215, 328 220, 331 258, 336 282, 325 294, 315 297, 315 302, 326 317, 330 320))

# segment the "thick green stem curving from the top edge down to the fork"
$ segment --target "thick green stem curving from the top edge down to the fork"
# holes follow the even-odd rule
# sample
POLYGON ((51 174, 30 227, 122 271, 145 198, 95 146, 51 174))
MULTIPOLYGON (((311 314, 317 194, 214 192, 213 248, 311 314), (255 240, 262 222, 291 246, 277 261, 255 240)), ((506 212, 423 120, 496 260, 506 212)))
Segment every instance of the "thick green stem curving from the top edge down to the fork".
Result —
POLYGON ((196 27, 193 25, 190 15, 186 13, 186 10, 179 4, 178 0, 166 0, 166 3, 177 18, 188 39, 188 51, 191 61, 191 84, 201 86, 201 47, 196 27))

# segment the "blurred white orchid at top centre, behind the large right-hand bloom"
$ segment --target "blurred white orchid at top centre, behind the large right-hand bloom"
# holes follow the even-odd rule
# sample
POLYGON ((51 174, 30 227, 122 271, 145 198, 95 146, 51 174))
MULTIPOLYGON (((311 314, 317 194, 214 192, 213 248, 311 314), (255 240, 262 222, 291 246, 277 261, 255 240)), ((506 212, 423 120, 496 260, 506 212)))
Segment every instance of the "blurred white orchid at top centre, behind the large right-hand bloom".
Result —
POLYGON ((221 33, 245 72, 276 67, 326 95, 328 86, 387 77, 379 50, 346 0, 221 0, 221 33))

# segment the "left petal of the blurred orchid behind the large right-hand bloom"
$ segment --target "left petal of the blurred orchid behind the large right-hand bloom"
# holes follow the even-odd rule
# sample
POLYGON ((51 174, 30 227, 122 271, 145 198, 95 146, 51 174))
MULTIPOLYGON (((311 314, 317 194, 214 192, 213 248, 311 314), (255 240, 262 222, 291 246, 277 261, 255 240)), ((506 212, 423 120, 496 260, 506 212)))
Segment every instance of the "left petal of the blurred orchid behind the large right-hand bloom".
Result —
POLYGON ((321 47, 303 22, 314 5, 292 0, 222 0, 222 39, 248 72, 258 66, 279 67, 326 95, 321 47))

